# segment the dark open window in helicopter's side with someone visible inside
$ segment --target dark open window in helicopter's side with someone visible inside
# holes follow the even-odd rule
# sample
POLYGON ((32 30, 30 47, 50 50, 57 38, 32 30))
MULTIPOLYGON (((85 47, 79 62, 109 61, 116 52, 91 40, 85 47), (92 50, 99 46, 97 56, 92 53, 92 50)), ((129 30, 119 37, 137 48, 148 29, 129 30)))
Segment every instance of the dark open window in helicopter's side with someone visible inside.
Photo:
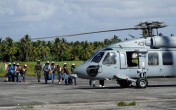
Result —
POLYGON ((127 52, 127 64, 128 67, 138 66, 138 53, 137 52, 127 52))

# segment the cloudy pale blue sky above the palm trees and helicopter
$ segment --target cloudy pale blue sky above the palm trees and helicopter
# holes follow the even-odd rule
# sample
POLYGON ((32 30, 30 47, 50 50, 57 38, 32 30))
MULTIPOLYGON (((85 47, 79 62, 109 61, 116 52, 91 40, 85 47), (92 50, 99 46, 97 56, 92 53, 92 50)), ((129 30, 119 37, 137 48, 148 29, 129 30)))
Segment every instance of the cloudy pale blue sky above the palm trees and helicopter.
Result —
MULTIPOLYGON (((164 35, 175 34, 176 0, 0 0, 0 37, 19 41, 82 32, 134 27, 162 21, 164 35)), ((67 41, 103 41, 141 37, 141 31, 121 31, 67 37, 67 41)), ((54 40, 50 39, 50 40, 54 40)))

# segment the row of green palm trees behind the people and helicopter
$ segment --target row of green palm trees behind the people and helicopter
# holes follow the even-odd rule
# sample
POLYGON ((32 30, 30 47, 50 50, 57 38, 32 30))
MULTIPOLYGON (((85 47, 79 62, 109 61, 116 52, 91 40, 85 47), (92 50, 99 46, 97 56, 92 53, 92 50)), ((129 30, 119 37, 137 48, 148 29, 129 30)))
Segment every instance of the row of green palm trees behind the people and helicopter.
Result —
POLYGON ((2 61, 71 61, 86 60, 94 51, 107 45, 120 42, 114 35, 104 41, 76 41, 67 42, 64 38, 55 38, 53 41, 32 41, 29 35, 25 35, 20 41, 14 41, 6 37, 0 41, 0 58, 2 61))

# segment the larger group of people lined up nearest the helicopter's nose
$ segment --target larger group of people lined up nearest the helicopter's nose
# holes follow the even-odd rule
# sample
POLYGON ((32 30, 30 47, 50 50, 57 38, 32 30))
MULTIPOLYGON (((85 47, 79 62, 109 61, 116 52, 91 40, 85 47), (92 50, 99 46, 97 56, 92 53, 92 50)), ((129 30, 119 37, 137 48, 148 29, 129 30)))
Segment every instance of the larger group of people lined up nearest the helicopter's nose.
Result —
POLYGON ((41 74, 43 72, 45 83, 48 83, 48 80, 52 80, 52 83, 54 82, 55 75, 57 74, 58 83, 61 84, 61 81, 64 81, 65 85, 76 85, 76 74, 74 74, 75 64, 73 63, 71 66, 71 73, 69 73, 67 64, 64 63, 63 67, 60 67, 60 65, 55 65, 55 62, 52 61, 51 64, 49 61, 46 61, 45 64, 41 65, 40 60, 37 61, 37 64, 34 67, 34 72, 37 75, 38 82, 41 81, 41 74))

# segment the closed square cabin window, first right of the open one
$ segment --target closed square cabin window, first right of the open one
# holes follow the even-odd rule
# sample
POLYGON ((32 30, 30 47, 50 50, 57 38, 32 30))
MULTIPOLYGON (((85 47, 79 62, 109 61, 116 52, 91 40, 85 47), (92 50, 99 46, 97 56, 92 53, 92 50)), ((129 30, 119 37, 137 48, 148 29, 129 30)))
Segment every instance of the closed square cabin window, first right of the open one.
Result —
POLYGON ((148 65, 159 65, 158 53, 153 52, 148 54, 148 65))

